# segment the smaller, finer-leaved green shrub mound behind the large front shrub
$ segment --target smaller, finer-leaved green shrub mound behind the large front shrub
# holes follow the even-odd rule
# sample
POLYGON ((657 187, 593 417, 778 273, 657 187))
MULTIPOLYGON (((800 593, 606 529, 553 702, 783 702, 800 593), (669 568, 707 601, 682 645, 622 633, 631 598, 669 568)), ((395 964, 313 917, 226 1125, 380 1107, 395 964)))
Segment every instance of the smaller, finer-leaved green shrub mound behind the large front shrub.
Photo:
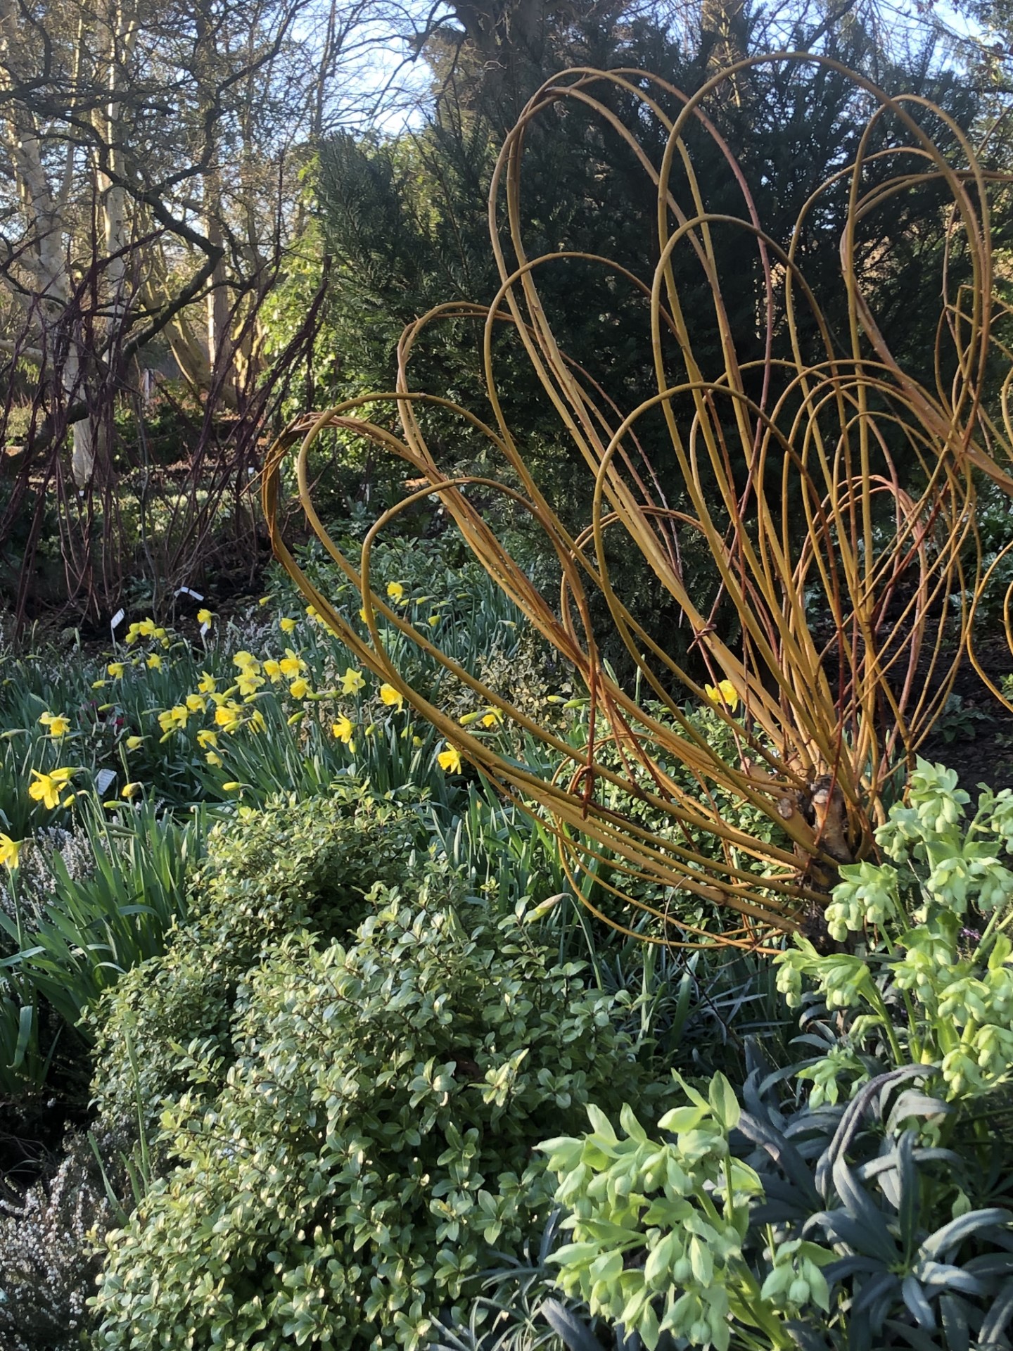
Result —
POLYGON ((151 1128, 162 1098, 220 1084, 239 982, 293 929, 353 929, 374 882, 402 875, 416 830, 407 808, 348 782, 330 797, 239 808, 212 831, 186 924, 89 1015, 101 1113, 130 1121, 139 1101, 151 1128))

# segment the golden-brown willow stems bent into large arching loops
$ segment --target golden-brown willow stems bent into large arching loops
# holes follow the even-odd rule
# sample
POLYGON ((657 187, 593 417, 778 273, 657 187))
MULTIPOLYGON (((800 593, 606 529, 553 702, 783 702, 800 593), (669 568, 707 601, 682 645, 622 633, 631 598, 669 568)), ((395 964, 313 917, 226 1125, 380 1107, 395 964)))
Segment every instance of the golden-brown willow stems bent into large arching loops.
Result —
MULTIPOLYGON (((781 53, 758 59, 821 58, 781 53)), ((501 286, 492 303, 440 305, 411 324, 398 346, 396 388, 297 419, 271 447, 263 480, 277 555, 335 634, 504 794, 550 824, 575 882, 577 873, 606 863, 609 880, 602 885, 648 915, 650 923, 636 931, 656 942, 720 938, 764 944, 778 931, 813 923, 836 867, 870 851, 898 769, 910 765, 945 705, 967 643, 972 607, 963 597, 981 582, 974 470, 1013 489, 1009 381, 991 403, 986 385, 995 317, 991 176, 941 111, 920 100, 890 99, 850 76, 873 108, 856 159, 813 195, 791 238, 778 242, 764 232, 746 177, 706 116, 708 99, 721 81, 755 63, 740 62, 692 97, 629 70, 578 69, 548 81, 529 101, 496 166, 489 215, 501 286), (659 163, 608 107, 609 91, 616 89, 638 99, 662 126, 666 149, 659 163), (567 101, 621 138, 654 185, 658 265, 650 278, 590 254, 528 258, 524 251, 525 134, 546 109, 567 101), (666 105, 681 111, 670 118, 666 105), (927 112, 945 126, 960 163, 923 130, 927 112), (895 143, 873 149, 887 123, 895 143), (708 184, 692 149, 701 132, 728 166, 743 201, 740 216, 708 209, 708 184), (800 265, 809 218, 821 196, 839 185, 848 193, 840 240, 846 346, 831 336, 800 265), (935 388, 904 370, 890 353, 855 265, 863 219, 893 197, 927 186, 944 189, 950 201, 935 388), (743 249, 755 251, 762 278, 759 359, 740 358, 728 317, 716 234, 729 230, 739 231, 743 249), (945 285, 958 255, 971 280, 950 296, 945 285), (565 354, 555 340, 539 278, 547 267, 573 259, 609 269, 617 284, 646 303, 644 362, 654 366, 656 393, 639 407, 616 407, 577 363, 581 354, 565 354), (682 289, 687 276, 705 281, 712 307, 708 331, 719 338, 716 357, 713 346, 697 351, 701 315, 698 299, 696 312, 687 308, 682 289), (485 326, 488 423, 411 388, 416 345, 434 324, 462 317, 485 326), (493 359, 493 332, 502 324, 525 350, 575 463, 589 476, 592 516, 575 535, 536 482, 504 416, 493 359), (774 354, 778 326, 789 355, 774 354), (955 374, 944 378, 943 370, 955 374), (392 404, 400 434, 377 420, 377 407, 392 404), (373 416, 366 416, 365 405, 373 416), (427 440, 421 407, 451 412, 485 438, 502 463, 502 480, 446 474, 427 440), (674 469, 681 482, 677 507, 663 499, 656 453, 651 462, 639 435, 644 419, 656 415, 667 432, 669 477, 674 469), (328 430, 365 438, 400 457, 411 477, 424 482, 377 520, 357 561, 335 546, 311 500, 308 461, 328 430), (320 594, 280 538, 280 474, 296 447, 300 501, 339 570, 361 590, 362 624, 320 594), (544 535, 559 569, 558 603, 542 594, 497 538, 481 505, 493 493, 527 513, 544 535), (461 669, 371 590, 370 559, 380 532, 430 494, 439 497, 474 555, 583 682, 590 707, 583 743, 571 744, 461 669), (683 576, 678 540, 689 535, 704 544, 723 603, 737 616, 735 642, 723 636, 715 605, 694 600, 692 580, 683 576), (733 689, 735 698, 729 693, 716 707, 732 734, 733 754, 716 750, 700 721, 683 711, 687 696, 705 698, 700 669, 669 653, 613 586, 606 546, 620 540, 642 555, 681 613, 709 680, 733 689), (604 600, 650 703, 638 701, 602 662, 592 621, 600 612, 592 604, 594 593, 604 600), (819 634, 809 623, 814 612, 828 620, 819 634), (378 616, 477 700, 500 709, 517 734, 513 744, 528 738, 540 747, 538 754, 528 762, 504 754, 498 739, 465 730, 411 688, 388 655, 378 616), (548 775, 542 767, 546 757, 556 766, 548 775), (728 809, 729 802, 750 809, 743 820, 759 817, 767 824, 759 830, 736 824, 739 813, 728 809), (659 886, 669 889, 663 893, 669 901, 644 900, 646 888, 658 894, 659 886), (717 935, 713 925, 689 923, 681 894, 727 913, 728 925, 717 935)), ((835 62, 821 63, 843 70, 835 62)), ((929 304, 932 297, 913 303, 929 304)), ((627 925, 615 913, 606 917, 633 931, 632 919, 627 925)))

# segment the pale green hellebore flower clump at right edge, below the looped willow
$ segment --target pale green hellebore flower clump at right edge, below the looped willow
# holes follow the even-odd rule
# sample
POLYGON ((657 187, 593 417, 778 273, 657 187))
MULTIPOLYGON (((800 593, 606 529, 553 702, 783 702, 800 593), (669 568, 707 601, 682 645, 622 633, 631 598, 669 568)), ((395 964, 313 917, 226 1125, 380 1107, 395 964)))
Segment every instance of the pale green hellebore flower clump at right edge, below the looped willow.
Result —
POLYGON ((970 821, 968 801, 952 770, 918 761, 908 805, 875 834, 891 862, 840 869, 827 925, 855 951, 820 955, 796 938, 775 958, 790 1005, 805 998, 810 1017, 821 1004, 843 1020, 832 1056, 802 1071, 831 1101, 844 1070, 856 1085, 877 1067, 935 1066, 951 1101, 1010 1075, 1013 792, 983 792, 970 821))

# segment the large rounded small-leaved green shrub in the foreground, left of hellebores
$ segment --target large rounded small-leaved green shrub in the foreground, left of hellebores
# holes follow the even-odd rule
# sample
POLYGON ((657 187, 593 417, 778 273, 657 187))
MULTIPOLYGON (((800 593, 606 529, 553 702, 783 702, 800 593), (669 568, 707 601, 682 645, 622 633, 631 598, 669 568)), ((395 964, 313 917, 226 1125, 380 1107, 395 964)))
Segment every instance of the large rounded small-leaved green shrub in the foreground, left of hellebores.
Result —
POLYGON ((536 1140, 640 1097, 615 997, 517 916, 434 865, 373 900, 347 947, 273 943, 227 1042, 147 1031, 194 1086, 162 1115, 174 1167, 108 1236, 96 1346, 421 1347, 544 1219, 536 1140))

